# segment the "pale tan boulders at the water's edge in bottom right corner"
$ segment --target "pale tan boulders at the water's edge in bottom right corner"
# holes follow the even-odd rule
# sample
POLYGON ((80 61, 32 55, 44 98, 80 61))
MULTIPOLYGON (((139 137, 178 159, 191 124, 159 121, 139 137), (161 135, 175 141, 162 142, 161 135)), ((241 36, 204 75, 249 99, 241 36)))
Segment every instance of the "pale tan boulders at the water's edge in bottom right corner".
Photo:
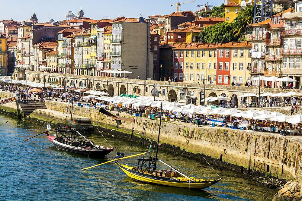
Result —
POLYGON ((291 180, 274 195, 272 201, 301 201, 300 188, 299 182, 291 180))

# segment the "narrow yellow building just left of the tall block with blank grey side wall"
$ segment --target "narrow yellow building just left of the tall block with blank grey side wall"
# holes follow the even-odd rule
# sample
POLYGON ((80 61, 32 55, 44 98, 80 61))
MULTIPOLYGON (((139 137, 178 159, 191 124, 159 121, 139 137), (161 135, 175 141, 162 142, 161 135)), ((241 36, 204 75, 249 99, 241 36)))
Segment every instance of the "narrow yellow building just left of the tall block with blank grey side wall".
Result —
MULTIPOLYGON (((104 32, 104 67, 103 70, 111 70, 111 44, 110 40, 112 39, 112 32, 110 27, 108 31, 104 32)), ((103 73, 103 76, 108 76, 108 73, 103 73)))

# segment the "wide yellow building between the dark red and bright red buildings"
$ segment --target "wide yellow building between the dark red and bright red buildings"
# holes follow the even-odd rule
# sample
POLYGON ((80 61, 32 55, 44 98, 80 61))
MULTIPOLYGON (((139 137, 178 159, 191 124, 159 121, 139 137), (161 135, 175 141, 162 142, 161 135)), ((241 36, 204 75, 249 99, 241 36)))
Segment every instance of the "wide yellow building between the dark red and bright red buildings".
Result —
POLYGON ((217 50, 220 44, 188 43, 174 48, 184 57, 184 82, 202 82, 204 79, 216 83, 217 50), (183 54, 181 53, 183 51, 183 54))

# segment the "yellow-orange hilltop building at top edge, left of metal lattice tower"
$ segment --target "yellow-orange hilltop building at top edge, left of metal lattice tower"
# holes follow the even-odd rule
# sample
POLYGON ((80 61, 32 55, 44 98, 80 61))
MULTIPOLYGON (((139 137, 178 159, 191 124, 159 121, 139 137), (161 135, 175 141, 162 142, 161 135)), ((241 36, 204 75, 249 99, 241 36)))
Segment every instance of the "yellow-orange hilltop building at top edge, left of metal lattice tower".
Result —
POLYGON ((227 0, 226 5, 224 5, 224 21, 233 22, 239 11, 247 5, 254 5, 254 0, 227 0))

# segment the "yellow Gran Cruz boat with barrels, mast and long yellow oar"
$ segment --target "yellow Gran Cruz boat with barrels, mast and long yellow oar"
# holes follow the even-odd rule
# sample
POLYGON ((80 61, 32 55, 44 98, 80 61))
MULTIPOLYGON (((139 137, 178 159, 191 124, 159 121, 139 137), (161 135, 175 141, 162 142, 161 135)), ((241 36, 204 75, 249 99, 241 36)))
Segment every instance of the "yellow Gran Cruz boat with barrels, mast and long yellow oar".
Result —
MULTIPOLYGON (((160 111, 162 111, 162 107, 160 108, 160 111)), ((160 115, 161 117, 161 112, 160 115)), ((159 134, 160 134, 160 125, 161 120, 159 121, 159 134)), ((158 154, 158 146, 159 146, 159 134, 158 134, 158 140, 157 140, 157 146, 156 146, 156 155, 152 155, 149 157, 138 157, 138 165, 137 167, 131 167, 128 165, 123 165, 120 162, 118 162, 121 159, 130 158, 133 156, 138 155, 145 155, 149 152, 144 152, 141 154, 131 155, 124 157, 124 153, 117 152, 117 156, 114 160, 108 161, 108 162, 115 162, 115 164, 121 168, 130 178, 136 181, 141 181, 149 184, 157 184, 157 185, 163 185, 163 186, 170 186, 170 187, 182 187, 182 188, 189 188, 189 189, 203 189, 212 186, 213 184, 216 184, 221 180, 221 177, 217 180, 204 180, 201 178, 195 178, 195 177, 188 177, 185 174, 181 173, 180 171, 176 170, 172 166, 168 165, 164 161, 160 160, 157 157, 158 154), (157 159, 157 160, 156 160, 157 159), (156 162, 159 161, 166 165, 167 167, 171 168, 171 170, 165 169, 165 170, 157 170, 156 169, 156 162)), ((98 165, 102 165, 108 162, 104 162, 98 165)), ((92 167, 96 167, 98 165, 94 165, 92 167)), ((89 168, 92 168, 89 167, 89 168)), ((84 168, 82 170, 85 170, 88 168, 84 168)), ((218 174, 217 174, 218 175, 218 174)), ((219 176, 219 175, 218 175, 219 176)))

